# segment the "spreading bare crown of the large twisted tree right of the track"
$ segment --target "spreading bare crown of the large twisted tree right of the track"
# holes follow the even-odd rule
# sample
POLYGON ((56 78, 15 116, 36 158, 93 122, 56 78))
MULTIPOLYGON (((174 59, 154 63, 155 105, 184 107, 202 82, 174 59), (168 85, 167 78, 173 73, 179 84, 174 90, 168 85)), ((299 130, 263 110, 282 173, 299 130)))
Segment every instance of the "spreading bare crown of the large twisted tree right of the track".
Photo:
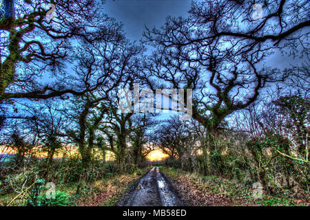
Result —
POLYGON ((249 107, 268 83, 286 74, 262 67, 273 52, 307 54, 304 1, 265 1, 265 16, 251 19, 254 1, 193 3, 188 19, 167 18, 161 30, 147 30, 145 43, 156 52, 145 65, 147 83, 154 80, 176 89, 194 89, 193 118, 217 133, 225 118, 249 107), (271 34, 273 32, 275 34, 271 34), (272 44, 271 44, 272 43, 272 44))

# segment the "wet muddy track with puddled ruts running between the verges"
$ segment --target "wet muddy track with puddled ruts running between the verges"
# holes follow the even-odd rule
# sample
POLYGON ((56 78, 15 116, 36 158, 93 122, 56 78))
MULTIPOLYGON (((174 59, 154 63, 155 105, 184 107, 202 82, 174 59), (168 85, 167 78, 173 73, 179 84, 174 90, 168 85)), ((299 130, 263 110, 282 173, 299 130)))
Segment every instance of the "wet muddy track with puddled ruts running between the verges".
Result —
POLYGON ((153 167, 125 192, 117 206, 184 206, 169 180, 153 167))

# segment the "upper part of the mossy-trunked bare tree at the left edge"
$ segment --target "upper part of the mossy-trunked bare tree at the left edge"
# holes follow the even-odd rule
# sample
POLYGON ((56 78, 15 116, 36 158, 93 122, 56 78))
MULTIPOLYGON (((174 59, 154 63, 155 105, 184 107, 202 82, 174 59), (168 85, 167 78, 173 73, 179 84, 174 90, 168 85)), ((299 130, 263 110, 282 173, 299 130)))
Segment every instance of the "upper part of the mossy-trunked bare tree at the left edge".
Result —
POLYGON ((1 102, 11 98, 80 96, 94 90, 94 85, 76 86, 64 67, 72 63, 72 46, 79 39, 88 43, 123 39, 121 25, 101 10, 94 0, 15 1, 15 19, 10 25, 1 25, 1 102), (46 16, 52 10, 48 3, 55 6, 53 19, 46 16), (43 83, 47 77, 49 82, 43 83))

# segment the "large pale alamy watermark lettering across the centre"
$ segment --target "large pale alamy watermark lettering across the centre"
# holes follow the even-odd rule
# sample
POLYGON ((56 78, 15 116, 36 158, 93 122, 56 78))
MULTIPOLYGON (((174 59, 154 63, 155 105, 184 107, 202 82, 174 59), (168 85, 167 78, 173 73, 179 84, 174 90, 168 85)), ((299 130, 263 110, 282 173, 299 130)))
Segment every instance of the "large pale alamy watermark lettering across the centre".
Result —
POLYGON ((156 89, 155 99, 152 89, 139 89, 139 84, 134 83, 134 93, 130 89, 118 91, 118 110, 122 113, 185 113, 179 116, 180 120, 192 118, 192 89, 156 89), (185 100, 186 96, 186 100, 185 100))

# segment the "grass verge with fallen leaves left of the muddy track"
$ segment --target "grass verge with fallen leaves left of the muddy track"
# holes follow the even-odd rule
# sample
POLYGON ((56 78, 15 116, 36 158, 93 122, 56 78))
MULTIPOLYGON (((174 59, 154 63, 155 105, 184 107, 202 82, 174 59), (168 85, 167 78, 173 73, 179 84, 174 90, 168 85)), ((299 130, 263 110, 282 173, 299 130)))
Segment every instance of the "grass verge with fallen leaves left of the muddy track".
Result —
MULTIPOLYGON (((138 169, 132 174, 121 174, 106 177, 98 181, 85 184, 85 182, 72 184, 58 184, 56 194, 66 195, 61 206, 114 206, 123 193, 134 182, 144 175, 149 167, 138 169), (79 188, 79 190, 77 190, 79 188)), ((31 190, 23 196, 17 192, 10 192, 0 196, 0 206, 26 206, 31 190)), ((41 192, 45 195, 46 189, 41 192)), ((60 198, 59 198, 60 199, 60 198)))

